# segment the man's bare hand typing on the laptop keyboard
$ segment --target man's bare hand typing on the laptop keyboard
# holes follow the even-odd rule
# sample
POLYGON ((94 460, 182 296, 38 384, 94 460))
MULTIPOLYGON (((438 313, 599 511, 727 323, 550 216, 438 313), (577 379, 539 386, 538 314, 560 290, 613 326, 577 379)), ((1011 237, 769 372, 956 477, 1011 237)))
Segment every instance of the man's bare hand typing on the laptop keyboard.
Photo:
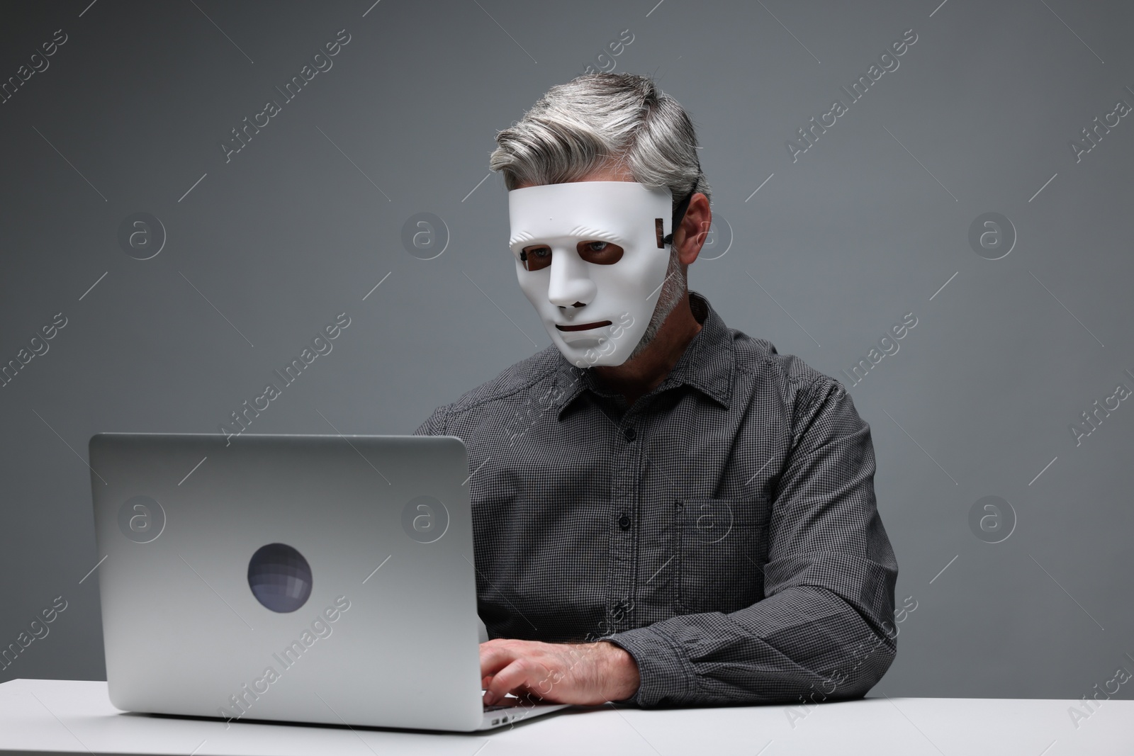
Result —
POLYGON ((638 688, 634 657, 618 646, 494 638, 481 644, 484 703, 506 694, 593 706, 629 698, 638 688))

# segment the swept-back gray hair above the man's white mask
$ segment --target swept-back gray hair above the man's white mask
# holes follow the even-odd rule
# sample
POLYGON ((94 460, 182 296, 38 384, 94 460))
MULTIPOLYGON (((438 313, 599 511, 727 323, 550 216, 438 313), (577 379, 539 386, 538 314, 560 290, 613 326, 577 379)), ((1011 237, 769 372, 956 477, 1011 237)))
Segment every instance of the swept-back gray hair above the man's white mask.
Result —
POLYGON ((509 190, 577 181, 611 165, 640 184, 668 187, 675 207, 691 192, 709 196, 693 122, 646 76, 577 76, 548 90, 496 141, 489 168, 503 172, 509 190))

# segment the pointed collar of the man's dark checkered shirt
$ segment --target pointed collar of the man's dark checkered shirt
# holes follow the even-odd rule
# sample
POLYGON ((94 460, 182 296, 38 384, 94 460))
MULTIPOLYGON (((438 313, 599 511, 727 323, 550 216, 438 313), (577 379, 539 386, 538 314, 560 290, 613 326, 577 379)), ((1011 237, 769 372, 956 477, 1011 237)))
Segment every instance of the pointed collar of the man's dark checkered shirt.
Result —
MULTIPOLYGON (((701 330, 689 341, 689 346, 669 371, 669 375, 650 393, 688 385, 727 409, 733 396, 733 369, 736 363, 733 337, 704 296, 689 291, 689 306, 693 316, 701 323, 701 330)), ((551 349, 559 356, 558 387, 564 392, 558 414, 560 419, 585 390, 601 397, 617 396, 599 382, 593 368, 576 367, 553 346, 551 349)))

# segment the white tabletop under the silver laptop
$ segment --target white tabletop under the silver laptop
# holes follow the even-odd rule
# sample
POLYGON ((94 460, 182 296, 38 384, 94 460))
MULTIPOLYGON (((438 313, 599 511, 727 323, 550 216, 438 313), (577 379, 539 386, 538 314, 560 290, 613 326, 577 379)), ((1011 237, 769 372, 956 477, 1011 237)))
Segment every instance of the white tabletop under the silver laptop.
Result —
POLYGON ((568 708, 480 733, 261 724, 126 714, 105 682, 0 685, 0 754, 454 754, 648 756, 1134 754, 1134 700, 1108 700, 1078 728, 1074 700, 866 698, 810 708, 568 708), (794 725, 794 727, 793 727, 794 725))

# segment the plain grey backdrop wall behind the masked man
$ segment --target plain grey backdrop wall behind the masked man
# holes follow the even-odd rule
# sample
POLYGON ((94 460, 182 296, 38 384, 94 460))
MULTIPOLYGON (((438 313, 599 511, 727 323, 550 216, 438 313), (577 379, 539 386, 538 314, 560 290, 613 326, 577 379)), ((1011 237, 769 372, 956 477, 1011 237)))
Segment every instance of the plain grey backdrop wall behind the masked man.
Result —
POLYGON ((68 602, 0 680, 104 674, 79 583, 100 559, 92 434, 217 432, 344 311, 249 432, 411 433, 549 343, 502 181, 479 182, 496 130, 627 28, 615 70, 652 73, 697 125, 734 238, 691 287, 729 326, 849 385, 839 371, 919 318, 849 385, 898 603, 917 602, 873 695, 1080 698, 1134 670, 1134 402, 1081 445, 1068 430, 1134 388, 1134 119, 1081 162, 1068 146, 1134 104, 1128 3, 88 2, 6 3, 0 25, 3 80, 69 35, 0 104, 0 363, 68 318, 0 389, 0 645, 68 602), (344 28, 333 68, 226 163, 229 130, 344 28), (849 104, 839 86, 908 28, 849 104), (786 139, 836 97, 848 113, 793 163, 786 139), (990 211, 1018 233, 997 261, 967 241, 990 211), (151 260, 118 245, 135 212, 168 232, 151 260), (403 247, 418 212, 448 227, 434 260, 403 247), (970 529, 985 495, 1016 512, 1001 543, 970 529))

